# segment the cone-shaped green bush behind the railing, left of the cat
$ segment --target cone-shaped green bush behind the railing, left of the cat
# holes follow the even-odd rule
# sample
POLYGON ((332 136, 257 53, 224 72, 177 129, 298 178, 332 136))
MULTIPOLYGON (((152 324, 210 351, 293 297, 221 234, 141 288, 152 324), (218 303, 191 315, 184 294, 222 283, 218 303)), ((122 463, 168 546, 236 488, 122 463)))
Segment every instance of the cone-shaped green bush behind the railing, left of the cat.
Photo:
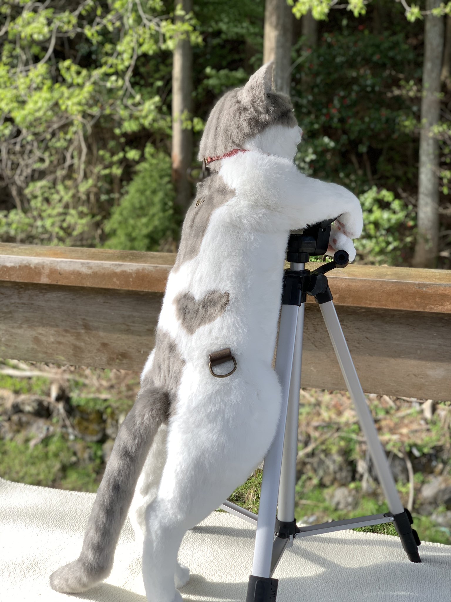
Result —
POLYGON ((156 251, 161 240, 174 238, 174 195, 170 157, 148 144, 126 195, 106 222, 105 247, 156 251))

